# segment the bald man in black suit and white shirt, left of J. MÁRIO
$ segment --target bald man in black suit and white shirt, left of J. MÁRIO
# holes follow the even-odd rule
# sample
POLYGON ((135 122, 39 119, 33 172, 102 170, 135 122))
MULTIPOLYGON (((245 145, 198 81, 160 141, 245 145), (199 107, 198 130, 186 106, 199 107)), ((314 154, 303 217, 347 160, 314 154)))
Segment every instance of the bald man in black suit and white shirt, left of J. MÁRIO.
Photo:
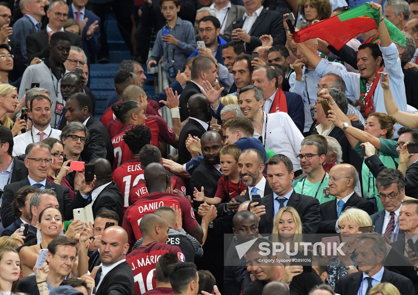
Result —
POLYGON ((96 295, 132 295, 134 279, 126 262, 129 244, 127 234, 120 226, 110 226, 102 233, 99 252, 100 264, 95 277, 96 295))

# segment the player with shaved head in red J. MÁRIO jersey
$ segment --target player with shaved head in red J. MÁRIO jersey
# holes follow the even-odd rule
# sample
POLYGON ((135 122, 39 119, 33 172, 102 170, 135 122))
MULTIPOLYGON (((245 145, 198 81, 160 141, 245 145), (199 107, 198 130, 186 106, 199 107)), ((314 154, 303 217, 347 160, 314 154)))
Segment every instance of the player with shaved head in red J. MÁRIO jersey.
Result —
MULTIPOLYGON (((133 276, 138 278, 135 284, 135 294, 143 294, 156 287, 153 275, 158 257, 166 254, 176 254, 179 261, 186 261, 180 247, 166 244, 168 240, 168 224, 158 214, 148 213, 139 223, 143 236, 143 244, 130 252, 126 261, 132 266, 133 276), (152 282, 152 284, 150 284, 152 282)), ((134 294, 134 293, 132 293, 134 294)))

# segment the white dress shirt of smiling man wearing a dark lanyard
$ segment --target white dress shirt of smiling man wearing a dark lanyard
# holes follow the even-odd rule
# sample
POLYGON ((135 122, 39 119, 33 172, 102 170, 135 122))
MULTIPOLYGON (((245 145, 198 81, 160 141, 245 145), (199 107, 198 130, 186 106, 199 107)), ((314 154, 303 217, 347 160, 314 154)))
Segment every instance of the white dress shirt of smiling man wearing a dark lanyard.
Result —
POLYGON ((293 169, 295 171, 301 169, 301 163, 296 156, 301 151, 301 142, 303 135, 296 127, 295 123, 285 112, 277 112, 272 114, 264 114, 263 128, 261 134, 258 134, 254 130, 252 137, 259 138, 263 136, 261 143, 264 144, 265 148, 272 150, 276 154, 286 155, 293 163, 293 169), (267 128, 266 125, 267 118, 267 128), (265 137, 265 130, 267 129, 267 137, 265 137))

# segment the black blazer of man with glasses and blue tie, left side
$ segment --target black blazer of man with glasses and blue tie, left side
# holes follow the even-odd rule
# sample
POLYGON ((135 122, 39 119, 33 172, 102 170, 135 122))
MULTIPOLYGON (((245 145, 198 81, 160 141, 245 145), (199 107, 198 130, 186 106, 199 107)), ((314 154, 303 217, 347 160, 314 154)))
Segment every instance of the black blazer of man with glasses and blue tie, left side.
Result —
MULTIPOLYGON (((30 186, 29 179, 25 178, 22 181, 10 183, 4 187, 3 203, 1 205, 1 222, 6 228, 16 220, 16 216, 13 213, 10 204, 15 198, 16 192, 23 186, 30 186)), ((65 186, 59 186, 53 182, 46 181, 46 188, 53 189, 57 194, 59 203, 59 211, 61 212, 65 220, 73 218, 73 208, 71 207, 70 191, 65 186)))

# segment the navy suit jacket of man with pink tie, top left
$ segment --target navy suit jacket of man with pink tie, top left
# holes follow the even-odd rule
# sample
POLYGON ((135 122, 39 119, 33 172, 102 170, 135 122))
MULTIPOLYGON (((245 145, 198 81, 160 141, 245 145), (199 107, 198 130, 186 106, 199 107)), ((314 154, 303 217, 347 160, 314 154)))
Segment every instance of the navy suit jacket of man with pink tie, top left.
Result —
MULTIPOLYGON (((95 15, 94 13, 90 12, 89 10, 84 10, 84 18, 88 18, 89 20, 86 23, 86 26, 83 29, 82 33, 82 44, 84 53, 87 56, 87 64, 90 65, 90 53, 96 55, 100 49, 100 28, 98 28, 91 39, 87 39, 87 30, 89 29, 90 25, 97 20, 97 24, 100 25, 100 18, 95 15)), ((74 12, 72 5, 68 5, 68 18, 74 18, 74 12)), ((94 114, 94 113, 93 113, 94 114)))

